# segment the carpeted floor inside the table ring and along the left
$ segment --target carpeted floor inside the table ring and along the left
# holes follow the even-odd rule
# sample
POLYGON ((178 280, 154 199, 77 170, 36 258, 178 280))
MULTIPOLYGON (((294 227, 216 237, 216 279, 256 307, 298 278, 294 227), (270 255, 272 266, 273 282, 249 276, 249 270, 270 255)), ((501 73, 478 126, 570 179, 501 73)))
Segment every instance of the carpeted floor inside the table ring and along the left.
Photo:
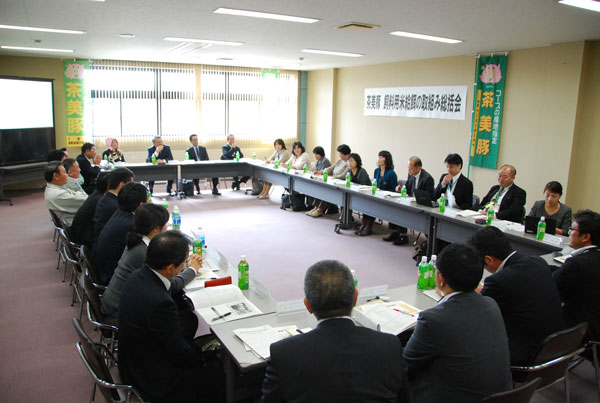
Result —
MULTIPOLYGON (((161 188, 155 190, 156 202, 161 188)), ((222 193, 216 197, 206 190, 201 196, 166 200, 170 210, 179 207, 184 229, 202 226, 208 247, 221 251, 232 264, 245 254, 251 277, 278 300, 301 298, 306 268, 321 259, 348 264, 356 271, 359 288, 416 282, 414 248, 382 242, 387 225, 377 225, 376 234, 368 237, 351 231, 336 234, 336 216, 311 218, 279 209, 280 190, 270 200, 222 193)), ((43 190, 6 196, 14 206, 0 204, 0 402, 88 401, 92 380, 76 353, 70 323, 79 305, 70 306, 72 288, 56 270, 43 190)), ((572 402, 598 401, 589 363, 577 368, 571 381, 572 402)), ((532 401, 560 402, 562 396, 558 384, 538 392, 532 401)))

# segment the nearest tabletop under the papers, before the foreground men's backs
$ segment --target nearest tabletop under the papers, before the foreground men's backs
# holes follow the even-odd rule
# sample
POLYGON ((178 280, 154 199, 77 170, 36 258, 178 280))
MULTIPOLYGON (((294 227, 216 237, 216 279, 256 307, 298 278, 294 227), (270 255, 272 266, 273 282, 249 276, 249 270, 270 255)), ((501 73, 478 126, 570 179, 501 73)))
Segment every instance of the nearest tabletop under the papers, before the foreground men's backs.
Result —
MULTIPOLYGON (((385 294, 390 297, 390 301, 404 301, 409 305, 421 310, 431 308, 437 304, 437 301, 423 294, 418 290, 415 284, 387 290, 385 294)), ((359 303, 361 301, 359 300, 359 303)), ((271 313, 261 316, 240 319, 237 321, 220 323, 211 326, 214 335, 219 339, 227 352, 224 359, 225 379, 226 379, 226 402, 235 402, 237 399, 245 398, 245 390, 236 388, 236 371, 242 374, 258 373, 263 374, 267 362, 252 351, 247 351, 242 341, 234 335, 236 329, 245 329, 270 325, 272 327, 296 325, 298 329, 317 327, 317 319, 306 309, 290 313, 271 313)))

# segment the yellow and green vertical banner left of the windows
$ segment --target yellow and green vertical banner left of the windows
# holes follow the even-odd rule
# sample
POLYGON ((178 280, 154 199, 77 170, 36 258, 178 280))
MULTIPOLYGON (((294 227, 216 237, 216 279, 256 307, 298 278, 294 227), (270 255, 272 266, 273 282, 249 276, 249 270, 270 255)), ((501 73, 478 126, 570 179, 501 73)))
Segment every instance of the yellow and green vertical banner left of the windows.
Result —
POLYGON ((84 76, 90 68, 87 61, 63 61, 65 72, 65 100, 67 113, 67 147, 80 147, 84 143, 84 76))

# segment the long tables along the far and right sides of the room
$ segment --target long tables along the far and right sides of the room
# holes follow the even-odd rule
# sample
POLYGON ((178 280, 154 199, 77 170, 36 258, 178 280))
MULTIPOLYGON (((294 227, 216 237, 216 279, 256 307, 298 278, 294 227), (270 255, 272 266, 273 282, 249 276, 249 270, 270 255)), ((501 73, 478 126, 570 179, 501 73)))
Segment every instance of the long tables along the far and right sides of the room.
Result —
MULTIPOLYGON (((457 210, 447 208, 444 213, 439 209, 416 204, 411 199, 389 197, 389 192, 378 190, 372 195, 370 186, 345 183, 330 178, 324 183, 321 177, 290 170, 284 167, 275 169, 262 161, 243 158, 218 161, 170 161, 166 164, 150 163, 122 164, 131 169, 137 181, 196 179, 228 176, 253 176, 275 185, 283 186, 290 192, 298 192, 316 199, 336 204, 343 208, 342 223, 347 225, 352 211, 361 212, 382 220, 412 228, 430 240, 427 244, 427 256, 436 250, 437 240, 447 242, 466 242, 482 226, 476 224, 473 217, 457 216, 457 210)), ((338 229, 339 230, 339 229, 338 229)), ((567 238, 557 237, 562 244, 538 241, 533 234, 503 228, 513 249, 525 255, 544 255, 560 251, 566 245, 567 238)))

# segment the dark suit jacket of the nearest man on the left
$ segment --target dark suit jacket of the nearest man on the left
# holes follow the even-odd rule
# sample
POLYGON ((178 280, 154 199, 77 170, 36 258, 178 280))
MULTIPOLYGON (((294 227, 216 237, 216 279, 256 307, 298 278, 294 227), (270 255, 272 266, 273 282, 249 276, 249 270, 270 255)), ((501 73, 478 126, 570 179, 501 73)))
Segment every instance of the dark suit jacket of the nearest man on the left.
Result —
POLYGON ((202 352, 185 341, 177 306, 147 266, 129 276, 119 304, 119 370, 152 402, 196 401, 210 380, 202 352))

